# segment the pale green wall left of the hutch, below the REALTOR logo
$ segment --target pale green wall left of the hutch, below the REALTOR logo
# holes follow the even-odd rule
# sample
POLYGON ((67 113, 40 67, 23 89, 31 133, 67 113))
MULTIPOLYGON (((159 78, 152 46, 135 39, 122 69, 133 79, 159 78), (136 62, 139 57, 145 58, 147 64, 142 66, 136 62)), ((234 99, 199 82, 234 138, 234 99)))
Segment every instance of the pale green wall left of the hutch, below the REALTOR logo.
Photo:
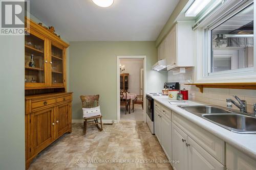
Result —
POLYGON ((0 169, 25 169, 24 36, 0 36, 0 169))

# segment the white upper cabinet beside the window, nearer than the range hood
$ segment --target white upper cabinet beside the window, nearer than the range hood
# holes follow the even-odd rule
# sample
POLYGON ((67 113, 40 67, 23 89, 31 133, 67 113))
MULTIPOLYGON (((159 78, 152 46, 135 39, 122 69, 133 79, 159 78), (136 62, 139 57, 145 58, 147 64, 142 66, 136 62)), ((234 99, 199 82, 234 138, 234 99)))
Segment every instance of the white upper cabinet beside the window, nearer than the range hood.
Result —
POLYGON ((192 30, 194 21, 178 21, 166 36, 167 70, 178 67, 192 67, 194 33, 192 30))

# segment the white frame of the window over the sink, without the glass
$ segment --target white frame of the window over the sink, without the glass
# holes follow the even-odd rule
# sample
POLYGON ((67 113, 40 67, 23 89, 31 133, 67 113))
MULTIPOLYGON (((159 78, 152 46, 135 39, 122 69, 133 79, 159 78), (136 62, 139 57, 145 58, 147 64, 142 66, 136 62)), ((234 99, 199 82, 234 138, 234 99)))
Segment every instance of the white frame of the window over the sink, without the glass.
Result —
MULTIPOLYGON (((231 82, 256 82, 256 49, 253 48, 253 67, 232 69, 218 72, 210 72, 210 57, 211 57, 211 30, 215 29, 221 23, 225 22, 232 16, 236 15, 238 12, 242 11, 249 5, 253 3, 252 0, 248 1, 236 1, 236 4, 229 3, 230 5, 226 6, 227 9, 234 9, 228 14, 225 13, 224 17, 213 15, 211 18, 208 18, 208 22, 205 22, 204 25, 199 26, 195 30, 196 36, 196 52, 195 52, 195 83, 231 83, 231 82), (221 18, 217 20, 217 18, 221 18)), ((233 2, 234 2, 233 1, 233 2)), ((254 18, 255 18, 255 3, 254 5, 254 18)), ((220 10, 221 11, 221 10, 220 10)), ((224 10, 223 12, 224 14, 224 10)), ((220 13, 219 13, 220 14, 220 13)), ((222 14, 222 15, 223 15, 222 14)), ((255 32, 255 23, 254 23, 254 32, 255 32)), ((253 39, 254 44, 255 38, 253 39)))

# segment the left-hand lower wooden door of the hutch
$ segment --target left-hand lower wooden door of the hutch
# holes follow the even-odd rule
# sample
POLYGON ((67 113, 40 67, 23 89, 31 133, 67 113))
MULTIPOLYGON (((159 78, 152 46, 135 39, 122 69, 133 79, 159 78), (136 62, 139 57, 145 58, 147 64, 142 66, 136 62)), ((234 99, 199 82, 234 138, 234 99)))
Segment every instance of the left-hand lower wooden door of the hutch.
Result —
POLYGON ((47 108, 31 114, 31 149, 34 153, 40 152, 55 139, 54 108, 47 108))

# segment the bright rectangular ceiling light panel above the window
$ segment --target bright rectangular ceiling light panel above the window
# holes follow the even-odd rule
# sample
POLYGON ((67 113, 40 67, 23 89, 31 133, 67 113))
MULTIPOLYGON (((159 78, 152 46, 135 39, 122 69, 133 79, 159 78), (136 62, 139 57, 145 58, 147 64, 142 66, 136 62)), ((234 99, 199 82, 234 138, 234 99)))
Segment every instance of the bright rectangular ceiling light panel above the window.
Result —
POLYGON ((197 16, 211 0, 195 0, 185 12, 185 16, 197 16))

